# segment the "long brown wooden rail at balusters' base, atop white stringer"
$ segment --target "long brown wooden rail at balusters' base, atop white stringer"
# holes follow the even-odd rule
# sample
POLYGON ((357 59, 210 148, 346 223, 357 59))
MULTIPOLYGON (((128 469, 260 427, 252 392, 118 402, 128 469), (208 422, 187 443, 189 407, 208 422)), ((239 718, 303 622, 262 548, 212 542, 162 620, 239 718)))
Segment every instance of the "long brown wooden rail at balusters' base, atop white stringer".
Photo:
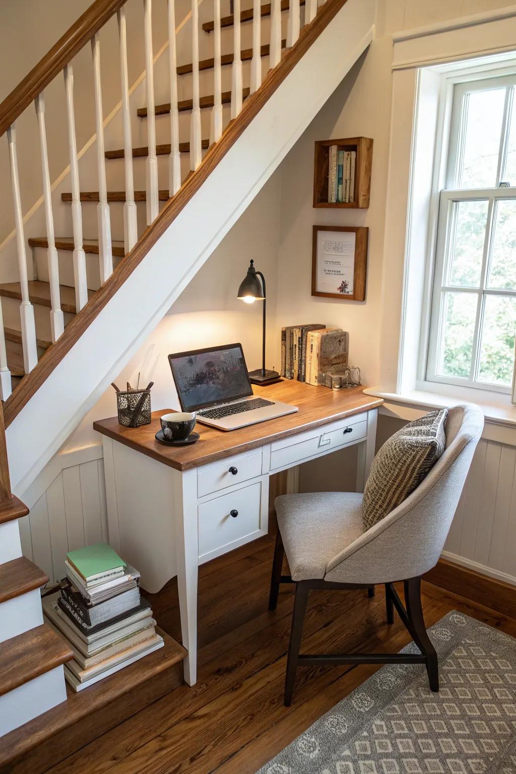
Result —
POLYGON ((15 391, 5 401, 5 427, 9 427, 15 416, 29 402, 32 396, 36 394, 39 387, 43 385, 46 378, 56 368, 56 365, 60 363, 73 347, 73 344, 79 341, 87 327, 101 313, 108 301, 117 293, 118 289, 125 283, 125 280, 128 279, 128 276, 135 271, 136 267, 145 258, 145 255, 155 245, 155 242, 165 233, 169 225, 183 210, 183 207, 186 207, 193 194, 207 180, 207 177, 213 172, 220 159, 234 146, 234 143, 237 142, 244 129, 248 127, 265 102, 274 94, 291 70, 296 67, 296 64, 312 43, 320 36, 323 29, 330 24, 333 17, 337 15, 346 2, 347 0, 326 0, 326 3, 317 13, 313 22, 302 28, 296 46, 292 46, 291 49, 285 52, 279 65, 274 70, 268 71, 258 91, 255 91, 254 94, 251 94, 244 101, 240 115, 230 122, 221 139, 210 146, 200 166, 197 167, 195 172, 190 174, 178 193, 168 200, 152 225, 138 239, 132 251, 125 258, 121 259, 116 271, 111 274, 105 285, 101 286, 101 289, 91 296, 86 306, 80 310, 80 314, 73 317, 73 320, 67 325, 64 333, 57 339, 56 343, 46 350, 37 365, 32 368, 32 371, 22 378, 15 391))

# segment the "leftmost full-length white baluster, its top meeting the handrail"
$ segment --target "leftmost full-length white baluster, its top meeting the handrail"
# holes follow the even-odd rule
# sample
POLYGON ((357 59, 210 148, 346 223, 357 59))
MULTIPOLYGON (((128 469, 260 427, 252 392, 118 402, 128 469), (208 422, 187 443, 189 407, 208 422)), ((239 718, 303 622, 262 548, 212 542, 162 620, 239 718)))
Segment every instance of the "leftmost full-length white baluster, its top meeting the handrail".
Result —
POLYGON ((32 371, 32 368, 34 368, 38 361, 38 351, 36 347, 36 323, 34 321, 34 307, 32 307, 32 303, 30 303, 29 300, 27 256, 25 250, 25 237, 23 235, 22 201, 19 194, 18 158, 16 156, 16 132, 14 124, 12 124, 7 130, 7 139, 9 141, 9 161, 11 163, 12 200, 15 210, 19 283, 22 293, 22 303, 19 307, 19 314, 22 324, 23 368, 25 368, 25 372, 28 374, 30 371, 32 371))

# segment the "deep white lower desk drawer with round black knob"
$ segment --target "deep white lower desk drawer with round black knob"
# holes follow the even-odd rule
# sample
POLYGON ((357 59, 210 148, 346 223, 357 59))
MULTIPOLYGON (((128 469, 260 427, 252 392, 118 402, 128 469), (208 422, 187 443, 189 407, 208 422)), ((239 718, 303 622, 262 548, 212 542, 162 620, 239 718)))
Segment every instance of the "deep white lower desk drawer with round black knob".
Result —
POLYGON ((199 505, 199 559, 224 553, 220 551, 224 546, 231 550, 232 543, 245 543, 244 538, 258 533, 260 502, 261 481, 258 481, 199 505), (231 515, 232 511, 236 515, 231 515))

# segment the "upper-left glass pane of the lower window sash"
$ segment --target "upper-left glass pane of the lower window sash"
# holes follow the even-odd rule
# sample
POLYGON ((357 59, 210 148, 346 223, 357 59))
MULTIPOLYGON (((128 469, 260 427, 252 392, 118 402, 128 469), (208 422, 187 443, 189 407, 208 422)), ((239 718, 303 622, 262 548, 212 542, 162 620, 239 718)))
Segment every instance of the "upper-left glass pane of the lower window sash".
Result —
POLYGON ((484 255, 487 200, 453 203, 449 235, 449 285, 478 287, 484 255))

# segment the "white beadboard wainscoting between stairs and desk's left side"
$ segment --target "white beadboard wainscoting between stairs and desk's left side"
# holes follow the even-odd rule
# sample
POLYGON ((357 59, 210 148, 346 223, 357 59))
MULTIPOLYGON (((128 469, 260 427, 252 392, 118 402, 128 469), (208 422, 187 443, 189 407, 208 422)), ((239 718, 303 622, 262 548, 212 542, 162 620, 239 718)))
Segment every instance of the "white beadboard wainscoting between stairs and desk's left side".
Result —
POLYGON ((108 541, 102 444, 56 454, 19 496, 30 509, 19 519, 22 551, 50 584, 64 577, 67 551, 108 541))

